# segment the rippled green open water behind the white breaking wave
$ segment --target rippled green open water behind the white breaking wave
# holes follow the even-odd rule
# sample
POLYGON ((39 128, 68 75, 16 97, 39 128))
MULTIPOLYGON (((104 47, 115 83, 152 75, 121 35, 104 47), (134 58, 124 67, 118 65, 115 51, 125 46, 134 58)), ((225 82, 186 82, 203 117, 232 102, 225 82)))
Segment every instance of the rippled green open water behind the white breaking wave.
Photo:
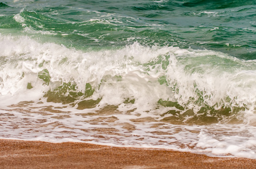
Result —
POLYGON ((145 46, 221 51, 254 60, 255 1, 3 1, 2 34, 74 47, 145 46))

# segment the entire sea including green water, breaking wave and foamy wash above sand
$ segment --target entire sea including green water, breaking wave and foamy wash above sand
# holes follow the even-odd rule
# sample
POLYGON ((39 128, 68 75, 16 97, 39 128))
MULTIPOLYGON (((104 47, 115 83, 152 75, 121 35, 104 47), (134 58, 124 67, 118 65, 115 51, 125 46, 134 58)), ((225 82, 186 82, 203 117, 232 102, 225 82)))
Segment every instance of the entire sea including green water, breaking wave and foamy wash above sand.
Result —
POLYGON ((0 2, 0 137, 256 158, 255 1, 0 2))

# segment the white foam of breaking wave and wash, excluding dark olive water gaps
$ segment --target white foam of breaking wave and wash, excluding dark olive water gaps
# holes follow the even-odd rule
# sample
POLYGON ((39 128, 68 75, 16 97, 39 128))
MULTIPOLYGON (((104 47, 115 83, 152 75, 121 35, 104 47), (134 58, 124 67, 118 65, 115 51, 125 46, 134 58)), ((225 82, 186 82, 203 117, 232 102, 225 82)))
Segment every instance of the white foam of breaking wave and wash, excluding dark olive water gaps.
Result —
POLYGON ((139 43, 78 51, 1 34, 0 46, 2 138, 86 141, 256 159, 255 61, 139 43), (37 78, 44 69, 51 77, 49 86, 37 78), (87 99, 101 98, 100 103, 78 110, 77 104, 51 103, 43 97, 50 88, 70 81, 80 91, 90 83, 95 92, 87 99), (33 88, 28 89, 28 83, 33 88), (127 98, 134 104, 125 104, 127 98), (159 105, 159 99, 178 103, 184 110, 159 105), (173 115, 163 115, 169 110, 200 115, 197 112, 204 105, 216 110, 240 107, 234 117, 244 121, 172 124, 165 118, 173 115))

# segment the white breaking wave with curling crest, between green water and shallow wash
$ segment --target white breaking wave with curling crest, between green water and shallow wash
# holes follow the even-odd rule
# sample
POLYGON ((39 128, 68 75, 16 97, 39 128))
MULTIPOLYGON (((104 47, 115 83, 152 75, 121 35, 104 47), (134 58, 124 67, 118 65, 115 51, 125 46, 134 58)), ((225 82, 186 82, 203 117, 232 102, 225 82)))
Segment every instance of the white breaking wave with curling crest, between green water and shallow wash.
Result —
POLYGON ((160 106, 194 113, 206 109, 209 115, 222 109, 228 114, 255 112, 253 60, 139 43, 87 52, 28 37, 1 35, 0 43, 2 95, 48 86, 44 94, 52 98, 48 101, 76 106, 88 99, 100 99, 94 106, 120 105, 128 99, 140 111, 157 112, 160 106), (86 95, 88 85, 93 90, 90 96, 86 95), (71 100, 65 102, 65 98, 71 100))

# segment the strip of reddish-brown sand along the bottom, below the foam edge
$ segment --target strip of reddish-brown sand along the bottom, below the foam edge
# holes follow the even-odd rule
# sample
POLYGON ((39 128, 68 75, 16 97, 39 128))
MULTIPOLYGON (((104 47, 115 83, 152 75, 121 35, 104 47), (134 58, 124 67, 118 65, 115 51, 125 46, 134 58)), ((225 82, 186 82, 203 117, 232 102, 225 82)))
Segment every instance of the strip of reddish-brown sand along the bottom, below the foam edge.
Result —
POLYGON ((255 159, 85 143, 0 140, 0 168, 255 168, 255 159))

